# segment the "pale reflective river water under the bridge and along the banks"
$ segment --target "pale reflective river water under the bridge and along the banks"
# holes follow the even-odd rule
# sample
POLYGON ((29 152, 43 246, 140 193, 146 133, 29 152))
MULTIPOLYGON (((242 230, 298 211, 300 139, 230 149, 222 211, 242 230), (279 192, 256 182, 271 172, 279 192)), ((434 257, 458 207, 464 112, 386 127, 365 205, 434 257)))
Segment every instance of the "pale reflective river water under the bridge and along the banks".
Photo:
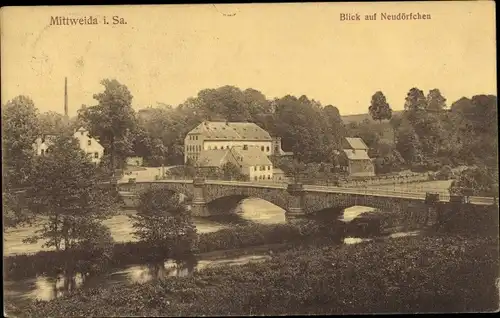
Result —
MULTIPOLYGON (((346 209, 343 215, 344 221, 350 221, 357 215, 371 210, 367 207, 352 207, 346 209)), ((197 218, 195 224, 198 232, 212 232, 235 223, 256 222, 261 224, 285 223, 285 212, 281 208, 260 199, 247 199, 242 201, 236 209, 236 215, 218 218, 197 218)), ((128 211, 127 213, 133 213, 128 211)), ((105 222, 110 227, 115 241, 134 241, 132 226, 127 215, 118 215, 105 222)), ((33 233, 35 229, 25 228, 9 231, 5 234, 4 255, 17 253, 34 253, 42 250, 41 244, 24 244, 22 239, 33 233)), ((345 244, 355 244, 367 239, 346 238, 345 244)), ((368 239, 369 240, 369 239, 368 239)), ((175 263, 173 261, 164 264, 136 264, 124 268, 116 268, 107 274, 84 277, 77 274, 73 277, 47 277, 39 276, 17 281, 4 282, 4 297, 11 302, 22 304, 26 300, 51 300, 61 295, 70 293, 78 288, 91 288, 110 286, 115 284, 144 283, 154 279, 168 276, 185 276, 194 270, 203 270, 210 266, 222 264, 241 265, 249 262, 261 262, 270 258, 269 248, 250 248, 240 250, 240 256, 235 255, 201 255, 197 260, 175 263), (245 254, 241 256, 241 254, 245 254)))

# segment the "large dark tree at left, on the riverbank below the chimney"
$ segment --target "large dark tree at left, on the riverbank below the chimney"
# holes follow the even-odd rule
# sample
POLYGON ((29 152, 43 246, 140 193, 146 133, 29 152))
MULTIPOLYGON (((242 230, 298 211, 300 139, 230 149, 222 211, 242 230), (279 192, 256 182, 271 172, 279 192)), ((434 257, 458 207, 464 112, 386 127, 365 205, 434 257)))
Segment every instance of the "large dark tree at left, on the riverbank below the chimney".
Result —
POLYGON ((71 132, 58 136, 47 155, 34 160, 26 201, 43 225, 27 241, 43 239, 46 247, 69 251, 105 235, 100 221, 113 214, 115 198, 101 181, 71 132))

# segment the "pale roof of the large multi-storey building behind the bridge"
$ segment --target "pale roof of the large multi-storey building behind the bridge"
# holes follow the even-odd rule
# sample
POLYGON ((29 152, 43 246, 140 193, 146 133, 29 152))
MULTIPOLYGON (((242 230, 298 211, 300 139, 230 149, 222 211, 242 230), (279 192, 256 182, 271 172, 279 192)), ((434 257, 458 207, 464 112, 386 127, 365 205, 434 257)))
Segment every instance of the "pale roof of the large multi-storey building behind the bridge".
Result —
POLYGON ((202 134, 208 140, 271 141, 267 131, 254 123, 204 121, 189 132, 202 134))

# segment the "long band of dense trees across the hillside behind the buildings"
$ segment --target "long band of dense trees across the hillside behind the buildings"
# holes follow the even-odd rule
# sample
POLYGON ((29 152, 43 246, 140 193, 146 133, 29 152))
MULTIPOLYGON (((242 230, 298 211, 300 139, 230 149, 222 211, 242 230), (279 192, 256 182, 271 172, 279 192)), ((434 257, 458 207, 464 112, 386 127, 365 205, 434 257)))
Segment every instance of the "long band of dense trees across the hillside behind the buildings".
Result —
MULTIPOLYGON (((442 166, 497 166, 497 98, 463 97, 447 107, 438 89, 427 96, 411 88, 398 115, 382 92, 368 107, 374 121, 345 125, 337 107, 323 106, 307 96, 267 99, 258 90, 233 86, 204 89, 196 97, 172 107, 159 104, 138 112, 132 93, 116 80, 103 80, 104 90, 94 95, 96 105, 85 106, 66 122, 55 112, 39 114, 33 101, 19 96, 2 107, 3 146, 7 167, 26 177, 31 144, 41 133, 58 133, 85 126, 105 148, 102 167, 124 168, 131 155, 147 165, 183 164, 186 134, 204 120, 254 122, 272 136, 281 137, 283 149, 294 152, 296 163, 307 173, 318 165, 335 167, 344 137, 360 137, 369 146, 377 173, 438 170, 442 166)), ((368 104, 368 103, 367 103, 368 104)), ((293 170, 281 160, 281 168, 293 170)), ((297 164, 296 164, 297 166, 297 164)), ((321 168, 323 169, 323 168, 321 168)), ((327 169, 331 171, 332 169, 327 169)))

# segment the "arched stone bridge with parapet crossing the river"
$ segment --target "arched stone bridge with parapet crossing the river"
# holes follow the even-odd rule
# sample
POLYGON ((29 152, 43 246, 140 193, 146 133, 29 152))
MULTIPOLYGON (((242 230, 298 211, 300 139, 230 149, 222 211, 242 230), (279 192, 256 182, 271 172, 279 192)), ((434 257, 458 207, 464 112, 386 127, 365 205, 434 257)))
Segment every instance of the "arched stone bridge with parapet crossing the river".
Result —
MULTIPOLYGON (((260 198, 285 210, 287 219, 307 216, 320 211, 340 213, 352 206, 367 206, 383 211, 429 212, 432 204, 426 201, 425 193, 403 193, 385 190, 352 189, 339 187, 308 186, 302 184, 253 183, 236 181, 204 180, 159 180, 155 182, 120 183, 119 190, 139 193, 148 188, 182 193, 191 199, 195 216, 224 214, 245 198, 260 198)), ((484 199, 484 198, 483 198, 484 199)), ((488 199, 488 198, 486 198, 488 199)), ((451 204, 449 199, 441 205, 451 204)), ((474 204, 488 205, 492 202, 477 201, 474 204)))

